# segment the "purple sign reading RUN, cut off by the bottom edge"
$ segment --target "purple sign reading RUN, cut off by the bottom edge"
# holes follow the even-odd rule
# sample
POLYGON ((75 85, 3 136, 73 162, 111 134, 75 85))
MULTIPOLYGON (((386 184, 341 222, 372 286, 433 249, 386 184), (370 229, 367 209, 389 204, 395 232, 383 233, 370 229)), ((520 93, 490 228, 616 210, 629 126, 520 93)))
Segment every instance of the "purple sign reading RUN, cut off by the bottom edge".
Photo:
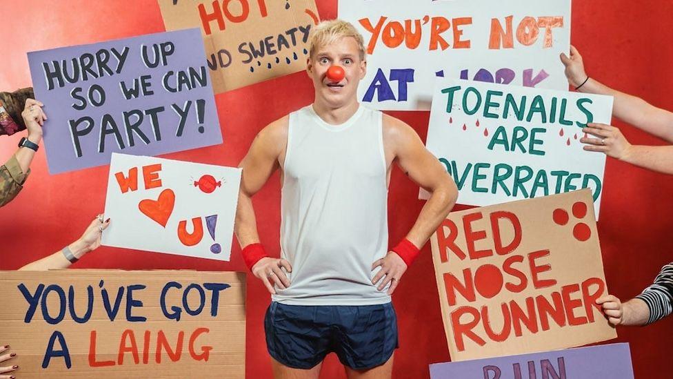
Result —
POLYGON ((633 379, 629 344, 430 365, 431 379, 633 379))

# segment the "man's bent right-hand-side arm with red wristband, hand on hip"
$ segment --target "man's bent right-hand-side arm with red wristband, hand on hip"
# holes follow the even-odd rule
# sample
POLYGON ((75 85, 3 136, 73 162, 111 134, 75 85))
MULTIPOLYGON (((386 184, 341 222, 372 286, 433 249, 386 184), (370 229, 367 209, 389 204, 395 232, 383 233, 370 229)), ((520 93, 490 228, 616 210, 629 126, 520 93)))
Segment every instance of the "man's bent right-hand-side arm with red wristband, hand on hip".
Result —
POLYGON ((378 286, 381 291, 391 282, 388 293, 392 295, 401 276, 419 254, 419 246, 428 242, 430 235, 456 204, 458 188, 441 163, 425 148, 416 132, 404 122, 388 115, 383 115, 383 146, 386 161, 391 157, 406 175, 430 193, 430 199, 421 209, 407 237, 372 266, 372 270, 381 266, 372 283, 376 284, 383 279, 378 286))

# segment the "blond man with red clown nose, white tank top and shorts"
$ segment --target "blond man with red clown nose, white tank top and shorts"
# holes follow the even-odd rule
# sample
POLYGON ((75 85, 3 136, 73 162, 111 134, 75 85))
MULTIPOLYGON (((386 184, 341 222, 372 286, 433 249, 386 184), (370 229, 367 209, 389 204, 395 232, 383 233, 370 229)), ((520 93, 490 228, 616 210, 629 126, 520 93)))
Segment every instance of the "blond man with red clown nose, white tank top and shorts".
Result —
POLYGON ((366 66, 350 23, 320 23, 306 66, 314 103, 263 128, 240 164, 235 232, 246 264, 272 293, 264 326, 276 378, 318 378, 330 352, 349 378, 390 378, 398 347, 390 295, 456 201, 454 182, 414 130, 359 104, 366 66), (432 195, 389 251, 393 163, 432 195), (259 243, 250 200, 276 169, 280 259, 259 243))

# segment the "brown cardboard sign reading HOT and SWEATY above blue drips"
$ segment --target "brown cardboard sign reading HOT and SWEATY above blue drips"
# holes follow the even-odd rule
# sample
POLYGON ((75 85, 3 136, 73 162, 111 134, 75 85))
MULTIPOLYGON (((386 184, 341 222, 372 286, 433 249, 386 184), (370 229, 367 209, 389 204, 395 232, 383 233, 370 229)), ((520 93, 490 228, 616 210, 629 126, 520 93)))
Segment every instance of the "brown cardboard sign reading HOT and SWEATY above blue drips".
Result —
POLYGON ((201 28, 215 93, 306 69, 315 0, 158 0, 166 30, 201 28))

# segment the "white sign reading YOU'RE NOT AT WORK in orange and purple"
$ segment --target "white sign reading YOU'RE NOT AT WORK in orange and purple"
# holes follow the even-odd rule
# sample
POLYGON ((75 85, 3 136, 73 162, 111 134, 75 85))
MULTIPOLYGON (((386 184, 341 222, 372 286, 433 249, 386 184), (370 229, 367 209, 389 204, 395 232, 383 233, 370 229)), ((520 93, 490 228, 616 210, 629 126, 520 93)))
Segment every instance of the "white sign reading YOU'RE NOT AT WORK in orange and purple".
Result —
POLYGON ((339 17, 365 39, 376 109, 430 109, 437 76, 567 90, 570 0, 339 0, 339 17))

